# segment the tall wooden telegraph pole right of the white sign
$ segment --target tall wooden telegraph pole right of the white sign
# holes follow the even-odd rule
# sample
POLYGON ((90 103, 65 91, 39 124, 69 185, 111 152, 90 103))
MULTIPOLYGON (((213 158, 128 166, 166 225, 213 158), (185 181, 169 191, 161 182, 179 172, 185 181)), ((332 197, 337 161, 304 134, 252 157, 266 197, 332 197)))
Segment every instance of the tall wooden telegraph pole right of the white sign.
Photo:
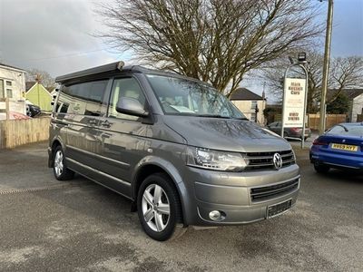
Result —
MULTIPOLYGON (((320 0, 321 2, 321 0, 320 0)), ((321 99, 320 99, 320 123, 319 134, 325 131, 325 114, 326 114, 326 100, 328 90, 328 75, 329 75, 329 56, 331 44, 331 28, 333 23, 333 0, 328 0, 328 19, 327 19, 327 34, 325 36, 325 52, 324 52, 324 66, 323 66, 323 81, 321 86, 321 99)))

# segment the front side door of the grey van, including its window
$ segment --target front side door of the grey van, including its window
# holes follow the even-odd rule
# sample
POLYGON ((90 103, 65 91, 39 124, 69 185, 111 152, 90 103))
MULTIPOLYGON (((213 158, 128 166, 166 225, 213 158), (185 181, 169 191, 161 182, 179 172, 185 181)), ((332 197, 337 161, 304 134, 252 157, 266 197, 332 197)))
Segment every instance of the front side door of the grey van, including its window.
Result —
MULTIPOLYGON (((127 197, 132 197, 131 179, 135 165, 145 156, 148 124, 140 118, 116 112, 116 104, 121 97, 139 100, 145 105, 146 99, 142 88, 133 77, 124 77, 113 81, 108 116, 99 126, 102 142, 103 171, 112 181, 113 189, 127 197)), ((107 184, 107 186, 109 186, 107 184)))

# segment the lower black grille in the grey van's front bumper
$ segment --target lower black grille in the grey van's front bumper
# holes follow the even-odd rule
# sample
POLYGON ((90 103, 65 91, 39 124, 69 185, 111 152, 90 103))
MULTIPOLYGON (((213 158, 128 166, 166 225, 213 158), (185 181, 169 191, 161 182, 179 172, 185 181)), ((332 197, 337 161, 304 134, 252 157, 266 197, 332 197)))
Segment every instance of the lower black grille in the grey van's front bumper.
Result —
POLYGON ((273 199, 298 188, 299 178, 295 180, 289 180, 280 184, 251 188, 250 199, 252 202, 273 199))

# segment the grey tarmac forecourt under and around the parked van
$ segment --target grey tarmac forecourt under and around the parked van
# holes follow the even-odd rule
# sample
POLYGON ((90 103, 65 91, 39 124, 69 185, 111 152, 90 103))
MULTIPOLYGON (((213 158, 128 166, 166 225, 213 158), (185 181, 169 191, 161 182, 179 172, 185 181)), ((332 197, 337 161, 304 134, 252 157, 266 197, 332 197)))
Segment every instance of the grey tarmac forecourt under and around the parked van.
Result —
MULTIPOLYGON (((295 149, 298 149, 295 147, 295 149)), ((46 143, 0 151, 0 271, 363 271, 363 175, 314 172, 286 214, 157 242, 127 199, 80 176, 57 181, 46 143)))

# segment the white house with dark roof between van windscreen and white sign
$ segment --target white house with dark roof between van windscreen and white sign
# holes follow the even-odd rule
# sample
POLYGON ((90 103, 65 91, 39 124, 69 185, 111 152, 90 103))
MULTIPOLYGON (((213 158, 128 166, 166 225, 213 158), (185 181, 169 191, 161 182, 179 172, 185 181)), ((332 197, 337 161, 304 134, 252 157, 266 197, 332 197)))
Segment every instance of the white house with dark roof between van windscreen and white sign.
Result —
POLYGON ((265 123, 263 110, 266 108, 266 98, 264 93, 260 96, 246 88, 238 88, 231 94, 230 100, 250 121, 265 123))

